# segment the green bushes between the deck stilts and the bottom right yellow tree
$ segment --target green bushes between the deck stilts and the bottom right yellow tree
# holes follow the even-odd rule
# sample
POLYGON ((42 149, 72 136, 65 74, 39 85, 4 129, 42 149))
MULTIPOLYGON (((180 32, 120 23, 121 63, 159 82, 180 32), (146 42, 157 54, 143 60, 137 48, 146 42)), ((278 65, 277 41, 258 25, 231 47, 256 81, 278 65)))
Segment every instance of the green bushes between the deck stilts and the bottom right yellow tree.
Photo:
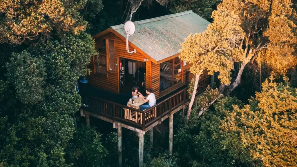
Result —
POLYGON ((223 97, 199 119, 197 108, 192 109, 186 126, 181 122, 174 136, 179 165, 233 167, 237 162, 249 162, 249 153, 242 149, 239 138, 233 133, 222 133, 220 128, 234 104, 243 106, 236 98, 223 97))

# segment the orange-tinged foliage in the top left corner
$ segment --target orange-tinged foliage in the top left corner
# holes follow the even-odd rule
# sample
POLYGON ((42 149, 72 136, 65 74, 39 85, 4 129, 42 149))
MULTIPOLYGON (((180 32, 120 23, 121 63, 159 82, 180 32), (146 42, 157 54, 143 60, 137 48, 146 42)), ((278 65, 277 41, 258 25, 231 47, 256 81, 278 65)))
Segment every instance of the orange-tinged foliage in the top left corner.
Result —
POLYGON ((50 31, 84 31, 86 22, 78 14, 86 0, 1 0, 0 43, 20 44, 50 31))

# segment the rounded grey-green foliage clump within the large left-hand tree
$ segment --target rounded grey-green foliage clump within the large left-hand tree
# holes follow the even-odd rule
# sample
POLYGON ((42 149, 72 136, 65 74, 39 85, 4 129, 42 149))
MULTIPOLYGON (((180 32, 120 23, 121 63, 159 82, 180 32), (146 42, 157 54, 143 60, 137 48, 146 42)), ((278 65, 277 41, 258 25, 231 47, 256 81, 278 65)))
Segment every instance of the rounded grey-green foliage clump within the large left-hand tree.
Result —
POLYGON ((15 87, 17 98, 24 104, 37 104, 46 95, 45 61, 27 51, 13 53, 7 63, 7 84, 15 87))

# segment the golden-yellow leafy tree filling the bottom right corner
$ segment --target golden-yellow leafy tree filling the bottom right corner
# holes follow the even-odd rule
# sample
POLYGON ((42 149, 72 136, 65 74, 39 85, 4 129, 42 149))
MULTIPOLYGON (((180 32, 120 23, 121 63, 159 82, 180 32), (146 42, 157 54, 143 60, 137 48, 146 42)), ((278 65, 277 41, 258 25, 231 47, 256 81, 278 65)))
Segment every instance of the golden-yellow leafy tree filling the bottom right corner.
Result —
POLYGON ((262 92, 257 92, 249 105, 234 105, 221 128, 236 134, 263 166, 297 166, 296 89, 273 78, 262 86, 262 92))

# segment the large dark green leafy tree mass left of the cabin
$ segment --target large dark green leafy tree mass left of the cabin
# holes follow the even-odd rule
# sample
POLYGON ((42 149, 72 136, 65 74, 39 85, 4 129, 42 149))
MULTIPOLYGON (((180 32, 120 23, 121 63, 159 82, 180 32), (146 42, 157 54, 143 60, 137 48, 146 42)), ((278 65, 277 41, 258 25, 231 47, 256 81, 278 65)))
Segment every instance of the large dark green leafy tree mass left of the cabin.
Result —
POLYGON ((80 107, 74 85, 94 53, 91 36, 80 33, 48 39, 12 55, 0 106, 1 120, 9 122, 1 124, 3 166, 72 165, 65 160, 65 149, 75 137, 72 115, 80 107))

